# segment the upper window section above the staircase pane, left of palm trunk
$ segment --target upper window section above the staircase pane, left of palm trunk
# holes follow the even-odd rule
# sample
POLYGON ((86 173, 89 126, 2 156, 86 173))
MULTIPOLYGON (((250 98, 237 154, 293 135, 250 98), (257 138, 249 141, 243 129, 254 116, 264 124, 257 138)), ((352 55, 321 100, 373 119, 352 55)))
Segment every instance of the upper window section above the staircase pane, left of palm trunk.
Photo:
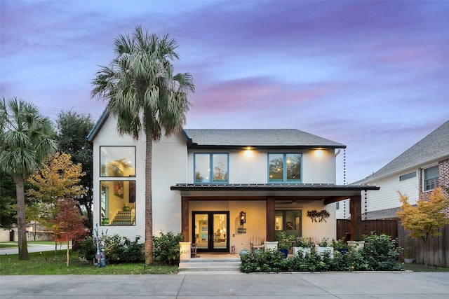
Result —
POLYGON ((100 176, 135 176, 135 146, 100 146, 100 176))

